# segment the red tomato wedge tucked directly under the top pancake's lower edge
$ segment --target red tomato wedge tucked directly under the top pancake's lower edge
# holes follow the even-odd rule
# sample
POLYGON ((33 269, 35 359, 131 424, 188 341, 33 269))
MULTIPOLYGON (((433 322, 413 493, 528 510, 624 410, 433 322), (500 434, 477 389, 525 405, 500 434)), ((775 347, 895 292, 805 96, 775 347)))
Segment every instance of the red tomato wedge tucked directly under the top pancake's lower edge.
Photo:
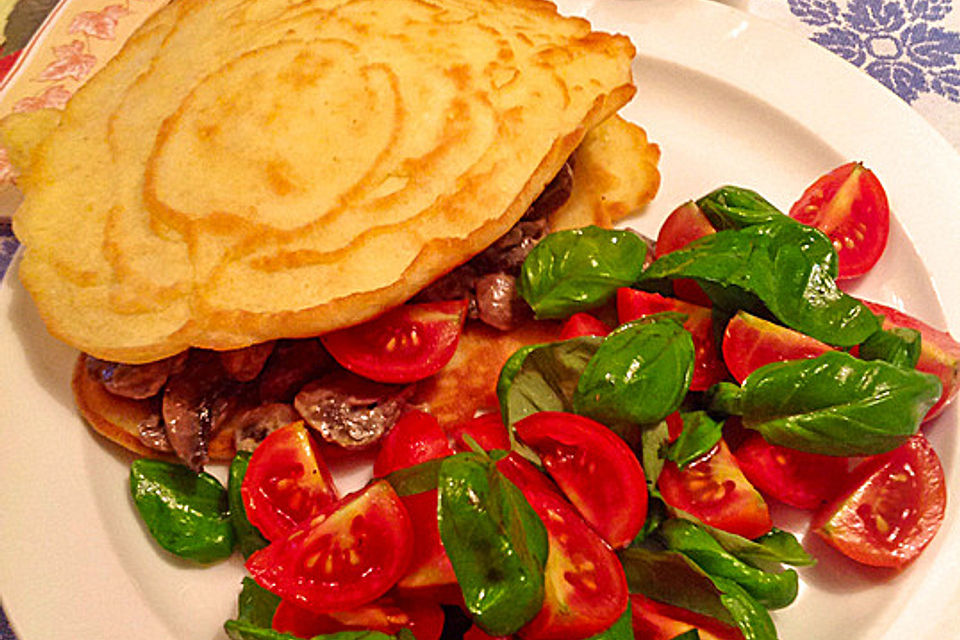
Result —
POLYGON ((405 304, 320 340, 357 375, 377 382, 415 382, 450 361, 466 317, 466 300, 405 304))

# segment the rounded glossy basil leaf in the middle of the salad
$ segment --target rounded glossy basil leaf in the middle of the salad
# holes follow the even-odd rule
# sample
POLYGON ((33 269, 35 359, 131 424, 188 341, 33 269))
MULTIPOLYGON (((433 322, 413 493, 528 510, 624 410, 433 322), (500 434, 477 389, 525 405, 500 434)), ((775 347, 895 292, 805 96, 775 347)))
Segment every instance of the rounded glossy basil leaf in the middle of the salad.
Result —
POLYGON ((623 324, 587 363, 574 412, 603 423, 654 424, 680 406, 693 376, 693 338, 669 316, 623 324))

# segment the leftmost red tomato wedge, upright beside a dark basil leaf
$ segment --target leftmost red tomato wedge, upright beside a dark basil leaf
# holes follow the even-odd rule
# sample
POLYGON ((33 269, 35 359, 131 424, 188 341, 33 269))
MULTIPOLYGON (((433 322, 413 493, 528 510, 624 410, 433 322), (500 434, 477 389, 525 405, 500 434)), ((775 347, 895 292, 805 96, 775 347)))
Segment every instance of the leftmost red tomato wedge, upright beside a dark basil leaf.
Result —
POLYGON ((247 518, 280 540, 340 499, 303 422, 280 427, 257 446, 240 485, 247 518))

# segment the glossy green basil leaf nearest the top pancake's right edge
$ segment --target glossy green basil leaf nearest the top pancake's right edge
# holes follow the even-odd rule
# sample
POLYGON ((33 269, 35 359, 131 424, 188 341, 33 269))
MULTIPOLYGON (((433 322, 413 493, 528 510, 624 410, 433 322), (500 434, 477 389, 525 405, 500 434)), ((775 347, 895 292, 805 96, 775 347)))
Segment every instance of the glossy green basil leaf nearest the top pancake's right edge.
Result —
POLYGON ((538 318, 563 318, 606 304, 643 271, 636 234, 596 226, 551 233, 527 255, 519 291, 538 318))

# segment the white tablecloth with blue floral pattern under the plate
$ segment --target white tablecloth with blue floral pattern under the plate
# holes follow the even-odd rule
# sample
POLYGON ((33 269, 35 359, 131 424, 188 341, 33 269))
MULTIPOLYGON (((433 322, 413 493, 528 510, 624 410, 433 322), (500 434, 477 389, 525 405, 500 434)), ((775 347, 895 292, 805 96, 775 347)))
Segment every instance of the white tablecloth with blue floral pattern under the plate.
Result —
MULTIPOLYGON (((859 67, 960 150, 960 0, 723 1, 859 67)), ((0 221, 0 278, 16 249, 9 223, 0 221)), ((16 640, 2 609, 0 640, 16 640)))

